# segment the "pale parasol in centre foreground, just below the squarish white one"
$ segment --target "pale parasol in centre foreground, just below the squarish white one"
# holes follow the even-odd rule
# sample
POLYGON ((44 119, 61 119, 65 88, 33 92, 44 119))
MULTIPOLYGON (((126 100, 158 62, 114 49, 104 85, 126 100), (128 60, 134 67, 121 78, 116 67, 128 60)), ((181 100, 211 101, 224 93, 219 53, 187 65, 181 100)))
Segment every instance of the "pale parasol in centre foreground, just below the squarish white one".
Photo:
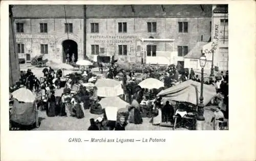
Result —
POLYGON ((128 105, 130 105, 129 103, 125 102, 124 100, 122 100, 119 97, 105 97, 105 98, 102 98, 99 101, 99 104, 102 106, 102 108, 105 108, 107 106, 113 106, 113 107, 116 107, 117 110, 122 109, 122 108, 126 108, 128 105))

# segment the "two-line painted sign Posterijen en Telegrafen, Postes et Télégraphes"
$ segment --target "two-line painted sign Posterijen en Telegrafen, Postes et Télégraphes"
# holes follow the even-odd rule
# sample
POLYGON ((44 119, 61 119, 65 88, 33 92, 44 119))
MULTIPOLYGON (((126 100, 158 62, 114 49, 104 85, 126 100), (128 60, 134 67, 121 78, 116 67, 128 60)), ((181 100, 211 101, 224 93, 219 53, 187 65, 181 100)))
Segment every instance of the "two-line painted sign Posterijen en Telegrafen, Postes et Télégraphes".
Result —
POLYGON ((94 39, 94 43, 131 43, 135 42, 137 36, 134 35, 91 35, 91 39, 94 39))

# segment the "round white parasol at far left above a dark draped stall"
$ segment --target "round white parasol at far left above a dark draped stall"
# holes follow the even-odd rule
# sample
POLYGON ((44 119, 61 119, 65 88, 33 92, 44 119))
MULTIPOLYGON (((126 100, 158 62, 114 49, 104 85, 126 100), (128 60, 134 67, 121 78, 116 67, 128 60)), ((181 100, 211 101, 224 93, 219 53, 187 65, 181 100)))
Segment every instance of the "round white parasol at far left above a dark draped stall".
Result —
POLYGON ((12 96, 21 102, 34 102, 36 95, 26 88, 20 88, 12 92, 12 96))

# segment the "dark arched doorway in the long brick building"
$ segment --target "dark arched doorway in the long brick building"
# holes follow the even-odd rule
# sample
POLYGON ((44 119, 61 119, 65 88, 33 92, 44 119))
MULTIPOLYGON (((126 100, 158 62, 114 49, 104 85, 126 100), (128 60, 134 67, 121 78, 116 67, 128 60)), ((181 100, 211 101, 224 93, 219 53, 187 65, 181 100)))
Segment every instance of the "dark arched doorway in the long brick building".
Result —
POLYGON ((74 53, 75 62, 77 62, 77 43, 73 40, 64 40, 62 42, 62 61, 66 63, 67 55, 70 56, 70 61, 74 53))

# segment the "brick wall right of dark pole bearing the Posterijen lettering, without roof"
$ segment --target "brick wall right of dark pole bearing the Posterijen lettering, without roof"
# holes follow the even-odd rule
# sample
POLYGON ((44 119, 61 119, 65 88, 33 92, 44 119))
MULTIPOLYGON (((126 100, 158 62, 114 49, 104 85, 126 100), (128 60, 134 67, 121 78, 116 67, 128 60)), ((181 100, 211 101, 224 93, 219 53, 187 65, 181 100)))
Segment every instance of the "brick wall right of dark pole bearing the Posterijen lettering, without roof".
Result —
MULTIPOLYGON (((109 55, 115 55, 119 59, 127 61, 140 61, 143 53, 141 38, 154 37, 155 39, 175 39, 174 46, 170 42, 144 42, 146 45, 157 45, 157 51, 177 51, 177 46, 188 46, 192 49, 197 41, 208 41, 210 38, 210 17, 186 17, 186 18, 88 18, 87 19, 87 55, 91 56, 91 45, 104 47, 109 55), (178 22, 188 22, 188 33, 178 32, 178 22), (127 22, 127 33, 118 33, 118 22, 127 22), (157 32, 147 32, 147 22, 157 22, 157 32), (91 23, 99 23, 99 33, 91 33, 91 23), (97 38, 97 36, 103 36, 97 38), (110 36, 115 38, 105 38, 110 36), (130 36, 131 38, 121 38, 130 36), (113 42, 104 40, 123 40, 124 42, 113 42), (127 45, 127 56, 118 56, 118 45, 127 45), (138 47, 141 46, 141 47, 138 47)), ((176 58, 180 61, 183 58, 176 58)))

